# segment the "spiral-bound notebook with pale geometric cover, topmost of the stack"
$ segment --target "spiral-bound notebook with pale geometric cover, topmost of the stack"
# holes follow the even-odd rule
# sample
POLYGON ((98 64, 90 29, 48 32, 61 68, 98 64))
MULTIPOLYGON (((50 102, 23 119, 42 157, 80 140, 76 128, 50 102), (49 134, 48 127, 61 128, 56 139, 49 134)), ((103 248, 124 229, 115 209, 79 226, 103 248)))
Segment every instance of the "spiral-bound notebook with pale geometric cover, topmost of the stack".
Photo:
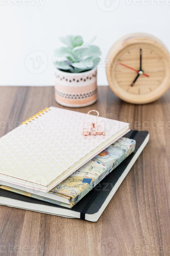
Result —
POLYGON ((0 180, 49 191, 128 131, 128 123, 98 120, 104 122, 105 135, 84 136, 87 114, 41 110, 0 138, 0 180))

